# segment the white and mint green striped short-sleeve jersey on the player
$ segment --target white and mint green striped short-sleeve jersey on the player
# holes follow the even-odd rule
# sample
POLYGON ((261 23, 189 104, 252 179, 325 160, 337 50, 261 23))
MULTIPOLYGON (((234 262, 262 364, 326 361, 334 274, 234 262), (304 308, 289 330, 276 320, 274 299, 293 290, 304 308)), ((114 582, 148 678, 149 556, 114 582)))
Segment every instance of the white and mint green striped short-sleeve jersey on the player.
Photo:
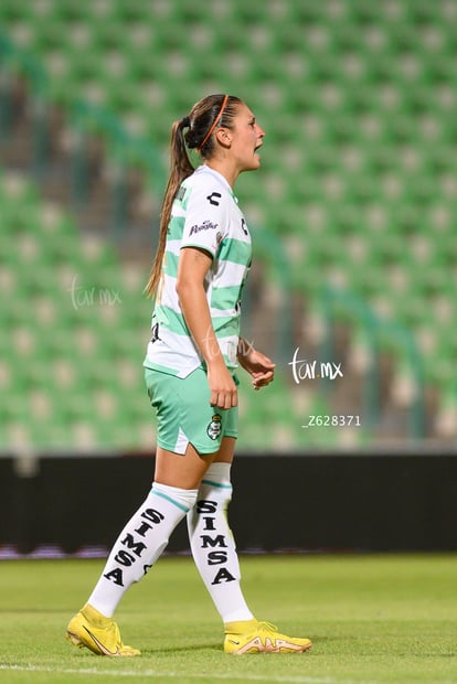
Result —
POLYGON ((144 363, 179 377, 204 367, 176 291, 179 256, 185 247, 204 249, 212 257, 204 290, 219 346, 227 367, 234 370, 241 295, 252 259, 251 235, 230 184, 206 165, 182 182, 172 205, 152 338, 144 363))

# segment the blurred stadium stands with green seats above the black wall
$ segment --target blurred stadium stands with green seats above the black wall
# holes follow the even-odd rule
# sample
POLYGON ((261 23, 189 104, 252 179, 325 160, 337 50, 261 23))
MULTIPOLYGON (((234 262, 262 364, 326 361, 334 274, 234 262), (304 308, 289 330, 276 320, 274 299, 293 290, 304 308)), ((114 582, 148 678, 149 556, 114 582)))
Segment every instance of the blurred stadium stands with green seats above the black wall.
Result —
POLYGON ((242 383, 240 450, 453 449, 456 36, 455 0, 2 0, 3 455, 152 452, 169 130, 214 92, 266 130, 236 193, 278 377, 242 383), (295 382, 297 349, 343 376, 295 382))

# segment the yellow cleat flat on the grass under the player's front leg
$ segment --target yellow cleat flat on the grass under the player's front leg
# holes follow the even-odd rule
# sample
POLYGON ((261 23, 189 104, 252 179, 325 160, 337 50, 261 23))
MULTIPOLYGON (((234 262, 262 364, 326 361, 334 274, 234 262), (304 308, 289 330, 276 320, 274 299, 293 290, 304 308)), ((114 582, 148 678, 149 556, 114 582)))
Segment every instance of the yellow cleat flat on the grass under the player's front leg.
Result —
POLYGON ((225 623, 225 653, 302 653, 312 646, 309 639, 279 634, 269 622, 244 620, 225 623))

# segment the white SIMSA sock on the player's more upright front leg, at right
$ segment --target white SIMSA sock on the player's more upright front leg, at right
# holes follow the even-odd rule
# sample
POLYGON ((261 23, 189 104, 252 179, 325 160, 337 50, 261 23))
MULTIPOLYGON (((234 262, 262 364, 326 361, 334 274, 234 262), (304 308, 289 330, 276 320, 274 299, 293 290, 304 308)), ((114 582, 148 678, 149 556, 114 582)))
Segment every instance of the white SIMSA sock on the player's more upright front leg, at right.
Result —
POLYGON ((252 620, 241 590, 240 563, 227 522, 230 463, 212 463, 188 513, 193 559, 224 622, 252 620))

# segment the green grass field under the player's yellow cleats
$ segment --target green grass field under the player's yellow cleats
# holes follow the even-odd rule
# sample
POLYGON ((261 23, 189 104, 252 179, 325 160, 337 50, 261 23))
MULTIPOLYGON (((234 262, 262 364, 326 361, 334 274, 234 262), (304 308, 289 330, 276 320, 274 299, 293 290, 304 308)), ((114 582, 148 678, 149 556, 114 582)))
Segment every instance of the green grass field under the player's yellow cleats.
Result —
POLYGON ((230 656, 219 617, 188 557, 164 557, 117 612, 136 659, 72 648, 66 623, 99 560, 0 564, 0 681, 8 684, 333 684, 457 682, 457 557, 242 558, 259 619, 310 637, 300 655, 230 656))

